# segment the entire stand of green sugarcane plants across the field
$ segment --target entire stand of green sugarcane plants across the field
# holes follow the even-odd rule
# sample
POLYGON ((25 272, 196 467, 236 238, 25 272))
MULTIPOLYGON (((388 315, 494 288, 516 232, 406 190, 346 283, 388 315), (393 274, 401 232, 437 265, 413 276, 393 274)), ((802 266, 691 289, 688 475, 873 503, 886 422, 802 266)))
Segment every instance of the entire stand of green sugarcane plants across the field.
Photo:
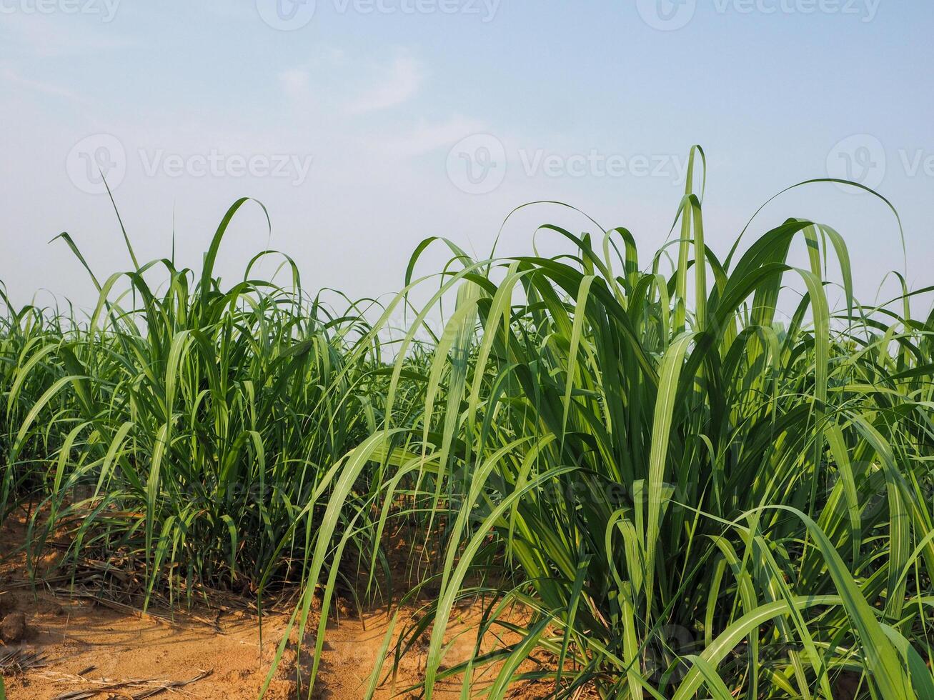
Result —
POLYGON ((242 202, 198 275, 135 259, 92 275, 81 322, 7 303, 0 514, 39 496, 35 552, 67 526, 72 560, 136 557, 150 591, 301 582, 303 631, 318 584, 325 612, 343 577, 387 593, 380 544, 413 524, 418 555, 438 555, 409 595, 440 590, 382 653, 430 639, 426 698, 457 674, 490 697, 521 679, 567 698, 934 697, 934 313, 909 303, 931 288, 899 311, 861 304, 842 236, 798 219, 721 260, 699 148, 690 163, 678 237, 644 266, 626 229, 545 226, 569 254, 473 260, 447 242, 451 262, 417 280, 429 239, 373 325, 307 299, 288 259, 288 288, 248 269, 223 289, 242 202), (479 594, 478 637, 520 641, 448 658, 452 610, 479 594))

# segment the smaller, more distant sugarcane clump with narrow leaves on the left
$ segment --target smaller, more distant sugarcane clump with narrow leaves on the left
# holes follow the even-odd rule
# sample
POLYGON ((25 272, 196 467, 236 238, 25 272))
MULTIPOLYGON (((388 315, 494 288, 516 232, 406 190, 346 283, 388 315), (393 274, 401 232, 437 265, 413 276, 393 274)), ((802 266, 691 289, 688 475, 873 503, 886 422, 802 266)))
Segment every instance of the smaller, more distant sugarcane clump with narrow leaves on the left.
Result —
POLYGON ((242 203, 193 287, 163 259, 103 284, 92 274, 100 298, 86 320, 9 312, 0 513, 41 497, 36 552, 64 526, 76 560, 143 562, 149 591, 300 578, 309 504, 381 420, 380 346, 356 305, 334 315, 306 298, 290 259, 288 289, 254 279, 272 251, 219 286, 212 266, 242 203), (162 291, 147 282, 159 269, 162 291))

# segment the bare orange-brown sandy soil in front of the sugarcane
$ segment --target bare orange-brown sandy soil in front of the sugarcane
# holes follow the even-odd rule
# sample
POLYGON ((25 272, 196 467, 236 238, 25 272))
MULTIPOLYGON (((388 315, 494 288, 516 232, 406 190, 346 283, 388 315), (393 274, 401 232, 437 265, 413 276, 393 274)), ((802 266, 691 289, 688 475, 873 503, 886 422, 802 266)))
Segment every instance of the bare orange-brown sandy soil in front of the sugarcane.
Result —
MULTIPOLYGON (((8 524, 0 532, 0 558, 4 559, 0 561, 0 618, 22 613, 26 623, 21 640, 0 642, 0 660, 10 651, 21 650, 23 654, 40 654, 41 665, 4 671, 8 700, 142 700, 149 696, 253 700, 258 696, 276 645, 284 637, 288 623, 285 606, 264 614, 261 642, 259 620, 246 604, 237 608, 227 601, 223 606, 174 616, 156 608, 142 615, 110 602, 63 595, 54 586, 45 586, 34 594, 23 581, 22 556, 8 556, 19 547, 24 535, 22 523, 8 524), (186 681, 192 682, 161 690, 186 681)), ((471 630, 481 609, 476 603, 456 610, 448 635, 453 644, 446 662, 467 658, 474 651, 475 634, 471 630)), ((412 612, 403 609, 400 620, 412 612)), ((330 623, 313 697, 360 700, 388 623, 389 616, 381 610, 366 612, 362 619, 345 617, 339 623, 330 623)), ((309 657, 303 651, 302 657, 296 658, 296 641, 293 631, 283 663, 266 694, 270 700, 299 696, 297 670, 307 669, 309 657)), ((378 691, 378 698, 400 696, 406 687, 422 679, 426 647, 421 644, 403 657, 394 688, 387 682, 378 691)), ((486 649, 490 647, 485 645, 486 649)), ((389 667, 384 666, 385 671, 389 667)), ((474 683, 483 683, 494 675, 493 670, 477 674, 474 683)), ((511 697, 543 697, 548 689, 526 684, 515 688, 511 697)), ((301 696, 306 697, 306 693, 301 696)), ((417 694, 401 696, 414 698, 417 694)), ((459 697, 460 679, 444 684, 437 696, 459 697)))

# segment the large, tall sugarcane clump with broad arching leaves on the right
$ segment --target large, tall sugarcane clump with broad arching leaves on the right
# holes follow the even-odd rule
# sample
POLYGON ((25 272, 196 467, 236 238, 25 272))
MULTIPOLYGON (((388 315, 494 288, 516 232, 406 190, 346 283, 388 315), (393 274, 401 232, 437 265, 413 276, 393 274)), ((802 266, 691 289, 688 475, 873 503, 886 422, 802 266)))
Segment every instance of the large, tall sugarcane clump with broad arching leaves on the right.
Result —
POLYGON ((451 606, 479 590, 468 571, 503 556, 515 587, 496 592, 536 611, 503 668, 552 651, 555 670, 534 675, 562 697, 830 697, 844 676, 881 698, 934 687, 934 315, 856 302, 826 226, 789 220, 721 262, 690 182, 679 217, 670 276, 662 252, 641 271, 625 229, 557 227, 572 255, 449 275, 472 291, 446 337, 473 315, 479 332, 439 344, 447 370, 426 390, 446 394, 425 407, 442 433, 424 441, 430 504, 454 522, 426 697, 451 606), (809 269, 787 263, 796 240, 809 269), (834 314, 828 247, 846 299, 834 314), (781 324, 789 275, 803 296, 781 324), (499 546, 481 548, 489 533, 499 546))

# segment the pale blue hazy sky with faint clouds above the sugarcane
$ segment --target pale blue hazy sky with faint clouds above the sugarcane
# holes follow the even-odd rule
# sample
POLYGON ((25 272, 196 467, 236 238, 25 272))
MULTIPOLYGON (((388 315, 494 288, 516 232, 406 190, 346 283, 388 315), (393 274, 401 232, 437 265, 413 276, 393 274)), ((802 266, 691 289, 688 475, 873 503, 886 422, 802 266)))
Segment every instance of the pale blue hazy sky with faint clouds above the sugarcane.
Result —
MULTIPOLYGON (((16 301, 39 288, 92 300, 64 246, 46 245, 60 231, 97 272, 127 265, 89 158, 140 257, 168 253, 174 217, 178 257, 196 266, 250 195, 307 287, 360 296, 399 288, 426 236, 488 252, 532 200, 629 227, 645 259, 694 143, 721 255, 772 194, 849 163, 899 207, 910 281, 934 282, 928 0, 318 0, 313 15, 280 2, 0 0, 0 279, 16 301)), ((789 216, 843 233, 864 297, 903 269, 894 219, 869 195, 792 192, 753 231, 789 216)), ((530 250, 545 222, 593 228, 532 209, 502 253, 530 250)), ((221 272, 264 245, 250 210, 221 272)))

